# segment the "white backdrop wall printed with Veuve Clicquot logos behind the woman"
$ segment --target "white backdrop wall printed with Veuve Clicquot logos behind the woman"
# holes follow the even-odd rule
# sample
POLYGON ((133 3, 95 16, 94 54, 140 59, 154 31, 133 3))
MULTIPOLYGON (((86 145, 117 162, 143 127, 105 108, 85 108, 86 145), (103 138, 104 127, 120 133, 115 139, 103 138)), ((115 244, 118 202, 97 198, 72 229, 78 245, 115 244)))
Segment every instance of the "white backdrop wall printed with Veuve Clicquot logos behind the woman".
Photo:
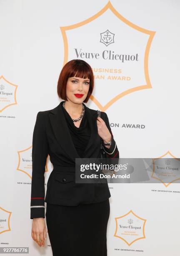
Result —
MULTIPOLYGON (((0 10, 0 247, 52 255, 48 235, 45 248, 31 238, 37 112, 59 104, 63 65, 84 59, 95 75, 86 104, 107 113, 120 157, 180 157, 180 2, 0 0, 0 10), (125 54, 130 61, 122 62, 125 54)), ((45 188, 51 171, 48 159, 45 188)), ((179 255, 178 183, 109 187, 108 255, 179 255), (120 225, 140 229, 124 232, 120 225)))

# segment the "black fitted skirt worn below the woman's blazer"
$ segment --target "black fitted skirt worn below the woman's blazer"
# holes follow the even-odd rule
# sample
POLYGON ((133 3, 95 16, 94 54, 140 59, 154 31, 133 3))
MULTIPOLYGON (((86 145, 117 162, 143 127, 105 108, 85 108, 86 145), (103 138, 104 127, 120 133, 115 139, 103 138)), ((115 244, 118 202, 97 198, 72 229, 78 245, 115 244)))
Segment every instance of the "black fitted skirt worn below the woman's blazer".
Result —
POLYGON ((109 198, 63 206, 47 203, 46 223, 53 256, 107 256, 109 198))

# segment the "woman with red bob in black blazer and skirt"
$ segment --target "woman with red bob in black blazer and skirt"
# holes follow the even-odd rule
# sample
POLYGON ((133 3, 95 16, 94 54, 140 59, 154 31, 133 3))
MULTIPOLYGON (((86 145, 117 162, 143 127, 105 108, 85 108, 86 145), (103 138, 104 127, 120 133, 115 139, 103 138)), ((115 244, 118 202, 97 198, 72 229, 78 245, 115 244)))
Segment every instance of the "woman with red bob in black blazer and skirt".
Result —
POLYGON ((107 256, 106 232, 110 191, 106 183, 76 183, 75 159, 100 158, 101 138, 109 158, 119 158, 105 112, 87 108, 94 87, 89 64, 74 59, 65 64, 57 83, 63 99, 37 113, 32 138, 32 238, 45 245, 46 225, 53 256, 107 256), (47 182, 47 155, 53 170, 47 182), (46 214, 45 203, 46 202, 46 214))

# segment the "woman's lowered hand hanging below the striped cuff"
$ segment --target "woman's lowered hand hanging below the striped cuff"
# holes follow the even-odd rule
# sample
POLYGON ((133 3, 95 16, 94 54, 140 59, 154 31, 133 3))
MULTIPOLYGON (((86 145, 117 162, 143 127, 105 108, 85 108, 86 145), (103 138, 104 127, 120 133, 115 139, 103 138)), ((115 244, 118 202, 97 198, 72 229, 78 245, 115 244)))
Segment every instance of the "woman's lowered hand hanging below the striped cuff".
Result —
POLYGON ((32 220, 32 239, 41 247, 45 245, 46 225, 44 218, 33 218, 32 220))

